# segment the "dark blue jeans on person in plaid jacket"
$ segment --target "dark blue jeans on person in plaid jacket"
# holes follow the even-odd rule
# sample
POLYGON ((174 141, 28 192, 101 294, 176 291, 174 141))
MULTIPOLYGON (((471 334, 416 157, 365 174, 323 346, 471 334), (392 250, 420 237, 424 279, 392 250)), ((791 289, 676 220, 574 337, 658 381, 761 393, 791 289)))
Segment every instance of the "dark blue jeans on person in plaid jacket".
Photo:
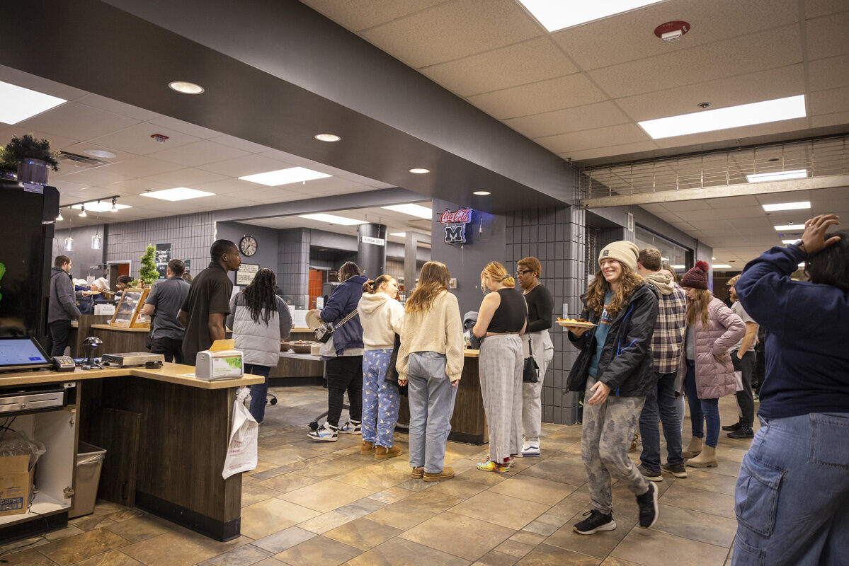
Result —
POLYGON ((649 390, 645 397, 643 412, 639 416, 639 434, 643 439, 640 462, 653 472, 661 469, 661 432, 657 429, 660 417, 663 436, 666 438, 666 462, 670 466, 683 464, 681 457, 681 421, 675 406, 676 373, 655 373, 657 387, 649 390))

